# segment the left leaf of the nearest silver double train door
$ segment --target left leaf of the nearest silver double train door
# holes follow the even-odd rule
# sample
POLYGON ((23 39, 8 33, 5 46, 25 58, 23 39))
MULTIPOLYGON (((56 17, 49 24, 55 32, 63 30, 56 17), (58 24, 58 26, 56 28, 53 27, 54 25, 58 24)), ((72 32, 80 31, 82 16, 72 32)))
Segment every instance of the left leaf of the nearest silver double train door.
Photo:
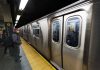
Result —
POLYGON ((63 17, 57 17, 52 20, 52 40, 51 40, 51 61, 54 65, 57 64, 61 67, 61 43, 62 43, 62 20, 63 17))

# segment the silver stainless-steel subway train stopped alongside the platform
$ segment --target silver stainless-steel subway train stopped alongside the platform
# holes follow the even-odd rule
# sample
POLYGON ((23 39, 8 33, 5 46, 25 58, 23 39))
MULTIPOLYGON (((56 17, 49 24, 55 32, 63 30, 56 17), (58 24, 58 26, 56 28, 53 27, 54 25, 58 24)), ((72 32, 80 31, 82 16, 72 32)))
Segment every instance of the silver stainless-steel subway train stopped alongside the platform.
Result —
POLYGON ((58 70, 100 70, 100 2, 80 0, 20 27, 58 70))

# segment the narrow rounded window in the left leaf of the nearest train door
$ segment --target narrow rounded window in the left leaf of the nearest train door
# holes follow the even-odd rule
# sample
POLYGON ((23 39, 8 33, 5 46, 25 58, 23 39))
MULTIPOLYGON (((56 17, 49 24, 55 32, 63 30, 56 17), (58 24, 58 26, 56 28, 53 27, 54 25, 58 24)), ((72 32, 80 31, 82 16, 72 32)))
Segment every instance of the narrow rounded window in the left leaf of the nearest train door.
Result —
POLYGON ((59 41, 59 29, 60 29, 60 22, 59 20, 55 20, 52 22, 53 24, 53 40, 55 42, 58 42, 59 41))

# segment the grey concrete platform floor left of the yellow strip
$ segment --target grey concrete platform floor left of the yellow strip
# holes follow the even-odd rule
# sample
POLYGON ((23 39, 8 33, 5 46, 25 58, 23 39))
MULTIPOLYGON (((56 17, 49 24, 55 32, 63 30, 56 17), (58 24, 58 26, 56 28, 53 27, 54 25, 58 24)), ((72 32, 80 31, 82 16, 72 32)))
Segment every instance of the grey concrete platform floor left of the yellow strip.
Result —
POLYGON ((4 55, 3 52, 4 47, 0 46, 0 70, 32 70, 21 47, 20 55, 22 58, 20 63, 15 62, 9 53, 4 55))

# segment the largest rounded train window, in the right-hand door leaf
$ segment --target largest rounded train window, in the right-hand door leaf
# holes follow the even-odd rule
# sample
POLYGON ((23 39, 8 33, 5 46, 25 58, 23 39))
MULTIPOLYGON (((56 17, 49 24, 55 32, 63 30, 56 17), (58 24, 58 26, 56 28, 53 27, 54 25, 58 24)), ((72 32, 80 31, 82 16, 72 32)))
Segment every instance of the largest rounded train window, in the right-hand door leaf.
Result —
POLYGON ((66 20, 66 43, 69 46, 77 47, 79 44, 81 17, 71 16, 66 20))

